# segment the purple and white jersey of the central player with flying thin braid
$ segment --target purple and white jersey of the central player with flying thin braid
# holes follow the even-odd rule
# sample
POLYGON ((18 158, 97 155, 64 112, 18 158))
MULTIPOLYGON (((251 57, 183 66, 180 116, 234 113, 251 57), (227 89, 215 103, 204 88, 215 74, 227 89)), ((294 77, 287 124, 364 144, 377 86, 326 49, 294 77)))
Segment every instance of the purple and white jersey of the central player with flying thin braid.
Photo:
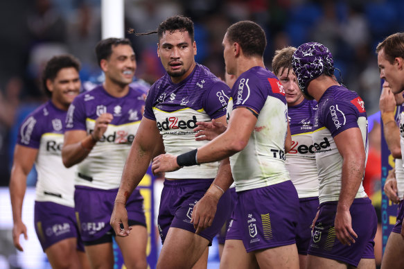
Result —
MULTIPOLYGON (((156 121, 166 153, 180 155, 208 141, 195 141, 197 121, 225 116, 229 87, 201 64, 182 82, 175 84, 168 73, 150 87, 144 116, 156 121)), ((166 177, 175 179, 214 178, 218 162, 183 167, 166 177)))

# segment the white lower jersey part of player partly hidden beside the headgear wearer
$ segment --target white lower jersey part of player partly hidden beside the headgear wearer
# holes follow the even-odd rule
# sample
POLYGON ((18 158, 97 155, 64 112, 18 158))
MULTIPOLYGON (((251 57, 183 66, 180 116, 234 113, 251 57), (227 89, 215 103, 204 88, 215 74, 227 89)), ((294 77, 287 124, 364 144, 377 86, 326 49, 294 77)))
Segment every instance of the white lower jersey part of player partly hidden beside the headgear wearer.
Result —
POLYGON ((292 135, 292 148, 286 154, 286 168, 299 198, 319 196, 313 132, 292 135))

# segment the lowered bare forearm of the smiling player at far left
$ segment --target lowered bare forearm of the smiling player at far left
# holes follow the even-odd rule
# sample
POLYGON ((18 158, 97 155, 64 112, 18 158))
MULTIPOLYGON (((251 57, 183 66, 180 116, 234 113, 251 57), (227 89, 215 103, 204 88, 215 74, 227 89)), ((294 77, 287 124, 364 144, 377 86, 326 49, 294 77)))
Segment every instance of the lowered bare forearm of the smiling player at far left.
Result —
POLYGON ((14 223, 21 221, 22 203, 26 191, 26 177, 21 168, 12 167, 10 177, 10 200, 12 208, 12 220, 14 223))

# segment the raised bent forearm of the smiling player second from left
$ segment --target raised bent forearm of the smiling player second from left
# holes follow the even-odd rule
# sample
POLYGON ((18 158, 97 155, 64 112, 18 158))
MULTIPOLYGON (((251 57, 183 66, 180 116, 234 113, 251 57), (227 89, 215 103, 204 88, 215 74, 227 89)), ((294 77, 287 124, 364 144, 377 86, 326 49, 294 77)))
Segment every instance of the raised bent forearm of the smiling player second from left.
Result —
POLYGON ((96 144, 96 140, 87 135, 85 139, 77 143, 64 145, 62 148, 62 161, 67 168, 79 164, 85 159, 96 144))

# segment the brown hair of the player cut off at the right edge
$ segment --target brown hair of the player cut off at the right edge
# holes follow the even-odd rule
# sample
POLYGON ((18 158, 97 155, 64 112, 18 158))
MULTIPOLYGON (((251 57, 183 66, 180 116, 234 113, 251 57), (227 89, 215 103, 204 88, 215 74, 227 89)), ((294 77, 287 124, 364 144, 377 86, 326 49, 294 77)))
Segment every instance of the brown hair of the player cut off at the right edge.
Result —
POLYGON ((394 62, 394 58, 401 57, 404 59, 404 33, 395 33, 386 37, 376 47, 376 53, 382 49, 385 50, 386 60, 391 64, 394 62))

